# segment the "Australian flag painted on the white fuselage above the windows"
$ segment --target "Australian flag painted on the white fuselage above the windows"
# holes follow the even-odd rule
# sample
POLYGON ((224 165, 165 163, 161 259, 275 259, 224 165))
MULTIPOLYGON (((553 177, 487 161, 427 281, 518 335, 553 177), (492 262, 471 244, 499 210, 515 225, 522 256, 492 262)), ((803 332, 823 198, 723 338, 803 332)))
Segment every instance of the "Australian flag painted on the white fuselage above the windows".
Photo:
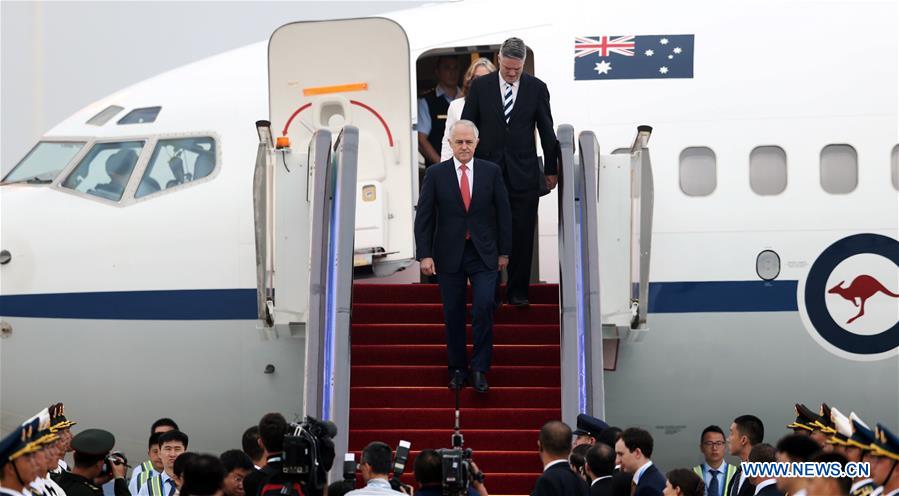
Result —
POLYGON ((693 77, 693 35, 583 36, 574 40, 574 79, 693 77))

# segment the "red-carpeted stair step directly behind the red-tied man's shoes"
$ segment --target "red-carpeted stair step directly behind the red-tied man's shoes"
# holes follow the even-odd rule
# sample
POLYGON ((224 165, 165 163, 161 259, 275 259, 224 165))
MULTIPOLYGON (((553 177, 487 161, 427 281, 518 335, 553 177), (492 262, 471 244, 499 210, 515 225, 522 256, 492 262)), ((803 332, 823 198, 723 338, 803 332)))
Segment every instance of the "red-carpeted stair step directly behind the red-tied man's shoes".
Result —
MULTIPOLYGON (((439 386, 449 383, 446 365, 353 365, 350 371, 354 386, 439 386)), ((558 386, 559 366, 497 366, 487 373, 491 387, 558 386)))

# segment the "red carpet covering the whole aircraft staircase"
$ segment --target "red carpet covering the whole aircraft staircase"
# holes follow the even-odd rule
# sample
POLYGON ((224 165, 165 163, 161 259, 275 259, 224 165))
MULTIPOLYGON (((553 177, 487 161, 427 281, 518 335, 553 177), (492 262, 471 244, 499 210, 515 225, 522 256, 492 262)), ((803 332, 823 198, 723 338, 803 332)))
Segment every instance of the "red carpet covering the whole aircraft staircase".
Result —
MULTIPOLYGON (((530 301, 497 310, 490 391, 466 388, 461 396, 465 446, 492 495, 530 494, 542 470, 537 433, 561 417, 558 286, 531 286, 530 301)), ((453 427, 437 286, 356 284, 351 343, 350 450, 375 440, 411 442, 404 480, 412 483, 415 455, 449 448, 453 427)))

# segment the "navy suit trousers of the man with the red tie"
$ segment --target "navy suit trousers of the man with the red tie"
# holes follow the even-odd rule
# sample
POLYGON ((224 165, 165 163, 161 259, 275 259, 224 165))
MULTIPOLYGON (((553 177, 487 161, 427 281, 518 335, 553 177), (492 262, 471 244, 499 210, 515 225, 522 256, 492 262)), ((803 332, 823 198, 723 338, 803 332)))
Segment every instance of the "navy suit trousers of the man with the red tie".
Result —
POLYGON ((493 312, 496 309, 494 290, 499 272, 489 269, 471 240, 465 241, 465 252, 458 272, 443 272, 437 264, 437 282, 443 301, 443 320, 446 324, 446 351, 450 373, 467 370, 465 349, 465 307, 468 281, 472 290, 472 336, 474 351, 471 369, 478 372, 490 370, 493 355, 493 312))

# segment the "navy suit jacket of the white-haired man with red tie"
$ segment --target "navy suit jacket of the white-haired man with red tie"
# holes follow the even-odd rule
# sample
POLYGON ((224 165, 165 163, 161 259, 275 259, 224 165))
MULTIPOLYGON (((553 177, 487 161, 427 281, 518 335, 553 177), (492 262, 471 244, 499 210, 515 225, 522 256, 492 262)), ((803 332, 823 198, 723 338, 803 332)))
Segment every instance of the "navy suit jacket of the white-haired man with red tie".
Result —
POLYGON ((415 258, 433 258, 438 275, 460 270, 466 230, 489 269, 496 270, 499 256, 509 255, 512 248, 512 211, 499 166, 477 158, 473 162, 467 212, 453 159, 425 173, 415 214, 415 258))

